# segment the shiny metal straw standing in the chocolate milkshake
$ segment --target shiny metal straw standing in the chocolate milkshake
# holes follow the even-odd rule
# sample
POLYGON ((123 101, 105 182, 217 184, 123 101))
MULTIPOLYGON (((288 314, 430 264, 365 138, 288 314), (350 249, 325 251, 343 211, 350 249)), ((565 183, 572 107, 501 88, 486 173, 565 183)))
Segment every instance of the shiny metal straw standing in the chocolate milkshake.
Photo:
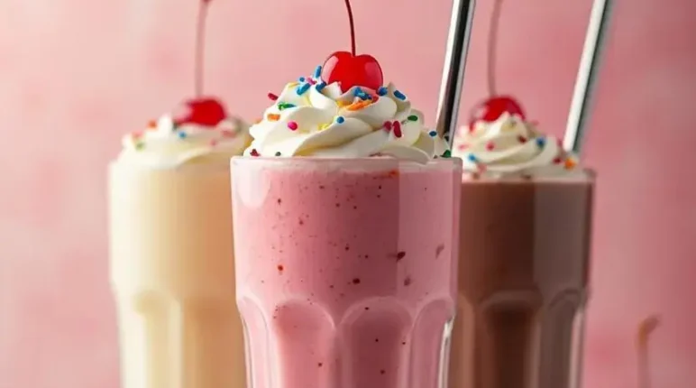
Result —
POLYGON ((582 151, 591 100, 596 86, 595 81, 600 67, 604 36, 609 24, 609 14, 611 14, 611 3, 612 0, 594 0, 592 5, 580 69, 578 69, 575 90, 572 93, 571 111, 563 137, 563 148, 575 154, 580 154, 582 151))

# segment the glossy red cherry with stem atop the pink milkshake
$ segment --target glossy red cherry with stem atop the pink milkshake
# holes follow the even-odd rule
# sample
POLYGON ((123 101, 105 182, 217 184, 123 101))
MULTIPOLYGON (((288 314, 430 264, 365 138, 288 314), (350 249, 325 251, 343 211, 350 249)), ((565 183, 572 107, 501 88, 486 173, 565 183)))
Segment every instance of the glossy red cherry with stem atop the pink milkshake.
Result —
POLYGON ((353 87, 377 90, 384 77, 380 62, 367 54, 355 53, 355 23, 350 0, 345 0, 348 20, 351 24, 351 51, 336 51, 325 61, 321 77, 325 83, 339 82, 343 92, 353 87))

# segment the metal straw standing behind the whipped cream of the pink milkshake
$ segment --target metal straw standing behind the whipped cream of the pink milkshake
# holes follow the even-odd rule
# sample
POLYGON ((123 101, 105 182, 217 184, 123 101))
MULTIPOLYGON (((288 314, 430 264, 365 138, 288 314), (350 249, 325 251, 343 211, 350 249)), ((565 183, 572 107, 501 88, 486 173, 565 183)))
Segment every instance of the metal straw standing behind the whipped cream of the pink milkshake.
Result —
POLYGON ((472 37, 473 8, 476 0, 453 0, 452 20, 444 57, 443 81, 437 104, 437 133, 452 145, 450 132, 457 124, 466 55, 472 37))

